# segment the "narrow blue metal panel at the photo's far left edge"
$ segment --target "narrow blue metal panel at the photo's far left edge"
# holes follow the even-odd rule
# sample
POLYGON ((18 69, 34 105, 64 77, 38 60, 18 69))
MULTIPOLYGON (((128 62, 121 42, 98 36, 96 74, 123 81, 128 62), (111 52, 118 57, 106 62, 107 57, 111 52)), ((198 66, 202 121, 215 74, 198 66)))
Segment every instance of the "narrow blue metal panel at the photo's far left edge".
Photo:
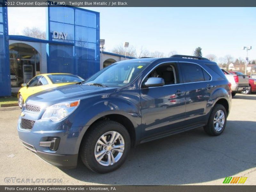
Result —
POLYGON ((0 2, 0 96, 11 95, 7 7, 0 2))

